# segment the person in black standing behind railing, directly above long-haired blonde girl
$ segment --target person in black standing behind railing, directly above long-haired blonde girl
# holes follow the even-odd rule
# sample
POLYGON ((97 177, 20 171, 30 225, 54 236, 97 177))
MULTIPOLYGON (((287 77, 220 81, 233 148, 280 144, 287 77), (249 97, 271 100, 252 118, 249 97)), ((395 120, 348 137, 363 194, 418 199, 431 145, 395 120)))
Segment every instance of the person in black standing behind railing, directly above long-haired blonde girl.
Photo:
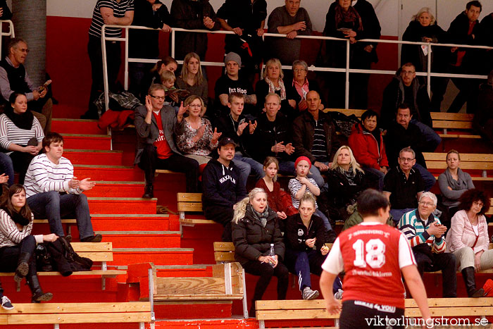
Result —
MULTIPOLYGON (((209 0, 173 0, 171 16, 175 27, 188 30, 219 30, 216 13, 209 0)), ((207 51, 207 34, 176 32, 175 58, 182 60, 190 52, 199 55, 204 61, 207 51)))

